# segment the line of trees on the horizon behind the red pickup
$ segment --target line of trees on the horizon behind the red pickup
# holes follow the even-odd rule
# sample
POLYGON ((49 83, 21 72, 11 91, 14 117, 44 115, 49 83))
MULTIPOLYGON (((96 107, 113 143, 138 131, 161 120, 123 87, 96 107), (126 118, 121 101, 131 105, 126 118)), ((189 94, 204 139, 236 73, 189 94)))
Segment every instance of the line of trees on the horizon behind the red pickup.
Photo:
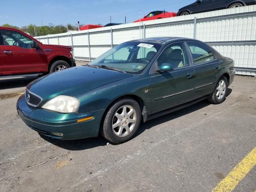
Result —
POLYGON ((65 33, 65 32, 67 32, 67 30, 77 30, 78 29, 77 26, 74 26, 71 24, 67 24, 66 26, 64 26, 64 25, 56 25, 55 26, 52 23, 49 23, 48 26, 36 26, 33 24, 30 24, 28 26, 23 26, 23 27, 13 26, 10 24, 3 24, 2 26, 22 30, 23 32, 26 32, 26 33, 30 34, 31 36, 44 36, 44 35, 48 35, 48 34, 65 33))

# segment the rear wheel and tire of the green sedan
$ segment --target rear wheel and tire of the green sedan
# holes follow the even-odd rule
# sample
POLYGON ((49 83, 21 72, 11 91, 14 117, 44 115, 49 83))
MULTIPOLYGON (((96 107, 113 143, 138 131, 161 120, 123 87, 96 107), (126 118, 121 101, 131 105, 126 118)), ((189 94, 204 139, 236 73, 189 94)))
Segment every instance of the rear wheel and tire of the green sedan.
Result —
POLYGON ((228 80, 225 76, 222 76, 218 81, 214 92, 208 98, 208 101, 212 104, 220 104, 224 102, 224 100, 226 99, 227 90, 228 90, 228 80))

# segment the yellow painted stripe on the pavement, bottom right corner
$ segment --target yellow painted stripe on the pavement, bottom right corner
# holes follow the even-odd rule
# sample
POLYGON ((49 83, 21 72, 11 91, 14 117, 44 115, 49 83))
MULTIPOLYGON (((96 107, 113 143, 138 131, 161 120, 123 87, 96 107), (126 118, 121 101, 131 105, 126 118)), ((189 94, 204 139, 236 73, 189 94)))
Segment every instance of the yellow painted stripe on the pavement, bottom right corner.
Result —
POLYGON ((254 148, 212 192, 231 192, 238 183, 256 165, 256 148, 254 148))

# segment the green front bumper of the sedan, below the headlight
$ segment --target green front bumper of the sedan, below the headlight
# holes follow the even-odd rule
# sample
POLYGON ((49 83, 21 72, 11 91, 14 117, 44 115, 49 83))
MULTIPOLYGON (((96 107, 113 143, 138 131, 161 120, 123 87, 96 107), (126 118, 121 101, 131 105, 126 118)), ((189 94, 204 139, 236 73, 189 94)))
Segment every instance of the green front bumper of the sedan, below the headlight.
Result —
POLYGON ((24 95, 18 99, 17 111, 20 118, 33 130, 51 138, 61 140, 97 137, 101 118, 104 113, 104 110, 98 110, 86 114, 61 114, 42 108, 33 108, 28 106, 24 95), (77 123, 78 119, 90 116, 94 116, 94 119, 77 123), (56 136, 53 133, 62 133, 63 136, 56 136))

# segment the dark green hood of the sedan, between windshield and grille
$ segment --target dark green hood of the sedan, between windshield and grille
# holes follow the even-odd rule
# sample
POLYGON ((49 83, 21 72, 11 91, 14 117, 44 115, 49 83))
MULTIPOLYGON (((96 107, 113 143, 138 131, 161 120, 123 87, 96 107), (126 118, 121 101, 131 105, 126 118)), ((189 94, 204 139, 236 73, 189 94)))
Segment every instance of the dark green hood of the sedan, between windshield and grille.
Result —
POLYGON ((131 76, 133 75, 112 70, 78 66, 38 78, 28 84, 27 89, 47 101, 58 95, 76 97, 131 76))

